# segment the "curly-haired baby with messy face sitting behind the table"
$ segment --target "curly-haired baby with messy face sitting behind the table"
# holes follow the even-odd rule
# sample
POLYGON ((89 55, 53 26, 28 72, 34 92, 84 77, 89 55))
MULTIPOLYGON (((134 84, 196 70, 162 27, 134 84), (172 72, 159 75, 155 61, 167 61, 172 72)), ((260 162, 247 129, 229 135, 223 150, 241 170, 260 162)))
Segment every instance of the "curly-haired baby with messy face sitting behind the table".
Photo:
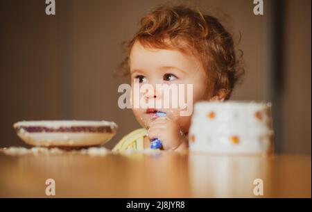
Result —
MULTIPOLYGON (((218 19, 185 6, 161 6, 140 23, 141 28, 128 43, 124 61, 132 88, 135 83, 154 88, 140 93, 140 99, 161 99, 159 84, 193 85, 192 104, 230 97, 244 70, 232 35, 218 19)), ((133 95, 132 91, 131 99, 133 95)), ((169 98, 175 99, 173 95, 169 98)), ((143 128, 124 136, 113 151, 149 149, 156 138, 161 141, 159 149, 188 149, 191 115, 180 115, 181 110, 135 108, 132 101, 132 111, 143 128)))

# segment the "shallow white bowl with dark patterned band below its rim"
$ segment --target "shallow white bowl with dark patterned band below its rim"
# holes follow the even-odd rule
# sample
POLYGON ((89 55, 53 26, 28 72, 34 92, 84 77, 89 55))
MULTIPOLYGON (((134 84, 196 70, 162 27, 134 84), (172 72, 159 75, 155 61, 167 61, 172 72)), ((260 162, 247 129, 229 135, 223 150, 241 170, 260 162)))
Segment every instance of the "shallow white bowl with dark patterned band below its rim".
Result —
POLYGON ((22 121, 13 127, 28 145, 64 148, 103 145, 117 131, 117 124, 107 121, 22 121))

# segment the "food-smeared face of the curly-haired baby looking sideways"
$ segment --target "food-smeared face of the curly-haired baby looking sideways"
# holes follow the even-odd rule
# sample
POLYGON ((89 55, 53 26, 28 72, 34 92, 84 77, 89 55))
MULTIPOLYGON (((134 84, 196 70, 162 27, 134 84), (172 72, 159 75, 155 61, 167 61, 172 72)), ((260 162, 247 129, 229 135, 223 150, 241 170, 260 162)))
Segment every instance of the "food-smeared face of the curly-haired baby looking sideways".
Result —
MULTIPOLYGON (((140 93, 141 98, 162 98, 161 92, 156 90, 156 84, 184 84, 185 97, 187 99, 187 84, 193 85, 193 103, 207 99, 205 90, 207 89, 207 76, 200 60, 195 56, 183 54, 177 50, 150 49, 135 42, 130 53, 130 76, 133 88, 134 79, 139 79, 140 85, 148 83, 153 85, 154 95, 146 92, 140 93)), ((133 91, 133 89, 132 89, 133 91)), ((170 92, 169 98, 172 99, 170 92)), ((133 92, 132 92, 133 99, 133 92)), ((186 101, 186 100, 185 100, 186 101)), ((133 102, 132 102, 133 104, 133 102)), ((177 104, 179 105, 179 104, 177 104)), ((154 107, 155 108, 155 107, 154 107)), ((155 111, 167 113, 169 118, 177 120, 184 132, 189 131, 191 115, 181 116, 180 108, 155 108, 155 111)), ((138 122, 142 127, 149 128, 150 122, 155 114, 153 110, 146 108, 133 108, 138 122)))

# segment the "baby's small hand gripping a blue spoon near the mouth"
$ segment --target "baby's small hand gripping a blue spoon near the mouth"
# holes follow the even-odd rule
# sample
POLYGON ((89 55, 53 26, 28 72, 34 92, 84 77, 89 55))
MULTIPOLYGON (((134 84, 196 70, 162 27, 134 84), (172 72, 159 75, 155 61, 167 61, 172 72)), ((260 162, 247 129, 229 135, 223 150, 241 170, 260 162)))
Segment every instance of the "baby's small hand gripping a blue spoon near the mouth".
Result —
POLYGON ((168 117, 158 117, 151 122, 147 136, 162 140, 164 149, 187 149, 187 138, 181 133, 177 122, 168 117))

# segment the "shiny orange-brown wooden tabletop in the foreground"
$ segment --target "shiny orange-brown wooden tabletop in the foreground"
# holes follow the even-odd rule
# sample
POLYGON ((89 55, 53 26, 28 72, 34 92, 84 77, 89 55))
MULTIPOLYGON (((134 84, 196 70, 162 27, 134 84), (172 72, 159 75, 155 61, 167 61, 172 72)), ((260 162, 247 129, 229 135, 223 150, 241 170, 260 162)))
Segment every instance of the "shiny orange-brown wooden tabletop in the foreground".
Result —
POLYGON ((0 154, 0 197, 311 197, 311 156, 0 154), (51 196, 50 196, 51 197, 51 196))

